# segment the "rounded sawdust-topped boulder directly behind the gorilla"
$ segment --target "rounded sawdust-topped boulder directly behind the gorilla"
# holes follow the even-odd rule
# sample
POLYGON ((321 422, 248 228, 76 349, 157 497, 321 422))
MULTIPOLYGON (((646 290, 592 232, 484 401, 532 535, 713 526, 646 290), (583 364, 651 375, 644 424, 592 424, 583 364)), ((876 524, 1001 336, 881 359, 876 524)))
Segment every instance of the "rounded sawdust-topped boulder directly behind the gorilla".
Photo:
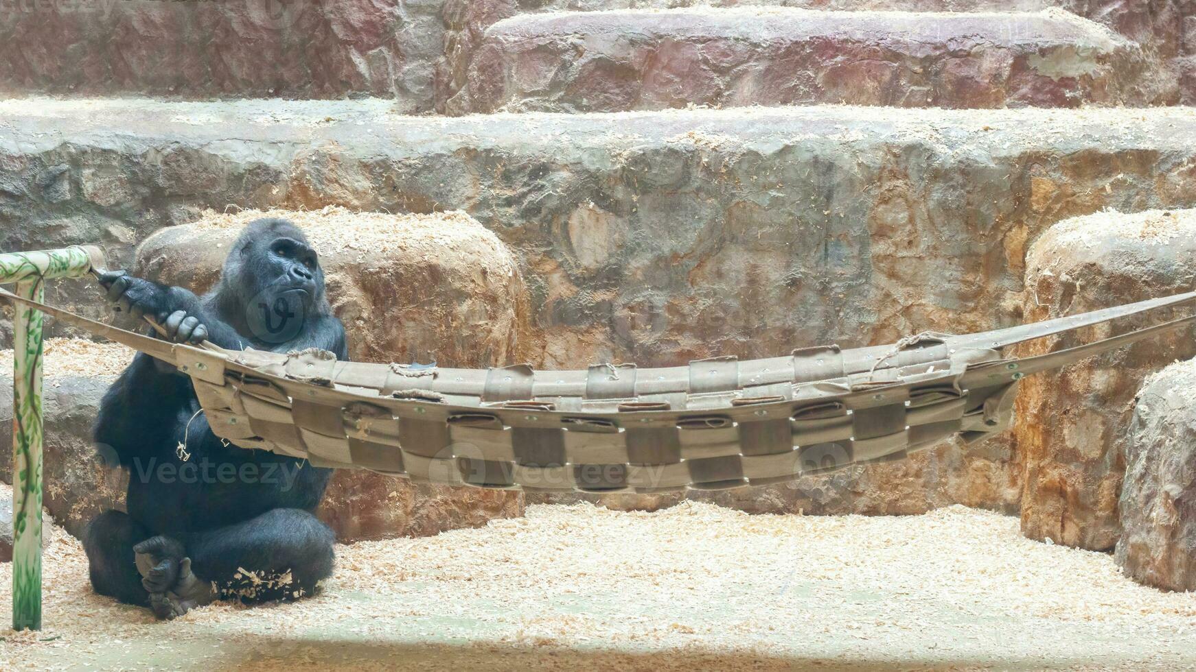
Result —
MULTIPOLYGON (((141 243, 134 272, 206 291, 242 227, 262 216, 304 227, 354 360, 484 366, 513 357, 524 302, 518 270, 498 238, 462 212, 207 212, 141 243)), ((321 518, 341 541, 433 535, 521 512, 518 492, 416 485, 360 470, 337 471, 321 505, 321 518)))

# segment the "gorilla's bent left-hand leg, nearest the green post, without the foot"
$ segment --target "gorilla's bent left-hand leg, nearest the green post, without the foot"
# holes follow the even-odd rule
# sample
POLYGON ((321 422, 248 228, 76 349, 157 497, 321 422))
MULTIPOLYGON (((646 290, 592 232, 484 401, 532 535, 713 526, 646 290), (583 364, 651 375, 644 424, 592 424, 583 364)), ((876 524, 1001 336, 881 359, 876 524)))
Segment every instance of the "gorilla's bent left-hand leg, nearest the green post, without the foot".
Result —
POLYGON ((122 511, 105 511, 87 524, 83 548, 97 593, 126 604, 148 605, 148 593, 133 561, 133 545, 148 536, 148 530, 122 511))

